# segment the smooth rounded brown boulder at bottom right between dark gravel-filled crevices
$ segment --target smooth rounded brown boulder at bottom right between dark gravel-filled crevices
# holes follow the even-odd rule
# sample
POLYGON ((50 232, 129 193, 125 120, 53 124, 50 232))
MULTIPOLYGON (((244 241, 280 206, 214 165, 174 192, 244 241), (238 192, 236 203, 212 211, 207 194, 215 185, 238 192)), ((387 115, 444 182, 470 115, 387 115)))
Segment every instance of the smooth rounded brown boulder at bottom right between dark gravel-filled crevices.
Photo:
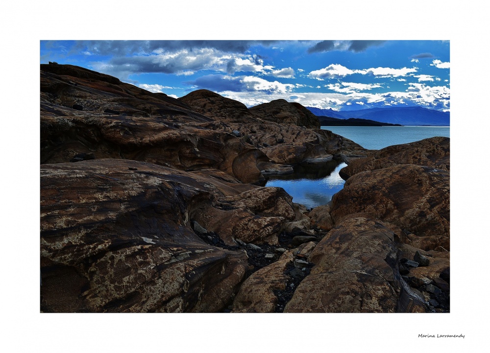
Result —
POLYGON ((366 218, 339 224, 308 257, 315 266, 284 311, 424 312, 423 299, 398 272, 394 236, 383 223, 366 218))

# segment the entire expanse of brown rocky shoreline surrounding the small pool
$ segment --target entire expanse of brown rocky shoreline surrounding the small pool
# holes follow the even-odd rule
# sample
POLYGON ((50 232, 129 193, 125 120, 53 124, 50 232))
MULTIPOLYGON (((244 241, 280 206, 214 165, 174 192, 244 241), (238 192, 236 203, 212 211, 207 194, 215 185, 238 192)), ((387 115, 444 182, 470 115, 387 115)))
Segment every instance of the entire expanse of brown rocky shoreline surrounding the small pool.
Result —
POLYGON ((449 139, 369 151, 297 103, 41 65, 41 311, 448 312, 449 139), (259 185, 347 182, 307 210, 259 185))

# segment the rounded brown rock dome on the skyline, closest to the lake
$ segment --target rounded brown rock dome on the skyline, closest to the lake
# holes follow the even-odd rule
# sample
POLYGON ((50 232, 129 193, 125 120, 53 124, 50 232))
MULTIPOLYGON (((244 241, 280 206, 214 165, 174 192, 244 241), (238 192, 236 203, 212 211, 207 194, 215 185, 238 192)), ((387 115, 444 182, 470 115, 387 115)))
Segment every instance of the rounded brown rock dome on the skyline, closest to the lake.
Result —
POLYGON ((281 125, 320 128, 320 122, 312 112, 299 103, 290 103, 284 99, 271 100, 269 103, 256 105, 249 110, 256 118, 281 125))

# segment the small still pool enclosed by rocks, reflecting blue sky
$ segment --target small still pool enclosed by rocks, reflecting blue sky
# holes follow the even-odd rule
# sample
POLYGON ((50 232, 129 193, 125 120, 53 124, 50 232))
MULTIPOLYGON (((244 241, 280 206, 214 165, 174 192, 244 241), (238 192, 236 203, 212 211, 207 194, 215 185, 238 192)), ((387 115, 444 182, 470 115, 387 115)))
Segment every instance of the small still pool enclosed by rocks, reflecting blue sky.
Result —
POLYGON ((345 181, 339 170, 344 166, 336 161, 296 165, 293 174, 271 176, 266 186, 283 188, 293 196, 293 202, 314 208, 328 203, 343 188, 345 181))

